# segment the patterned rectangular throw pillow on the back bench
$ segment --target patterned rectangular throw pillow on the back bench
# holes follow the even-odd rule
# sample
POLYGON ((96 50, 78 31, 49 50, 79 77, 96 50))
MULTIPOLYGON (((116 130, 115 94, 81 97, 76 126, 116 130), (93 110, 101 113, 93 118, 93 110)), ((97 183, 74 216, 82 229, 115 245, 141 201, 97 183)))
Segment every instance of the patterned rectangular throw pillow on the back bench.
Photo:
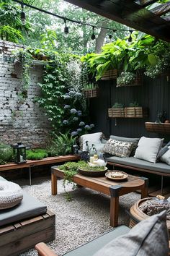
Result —
POLYGON ((109 139, 104 145, 103 151, 104 153, 120 156, 120 158, 126 158, 130 156, 132 149, 133 142, 109 139))

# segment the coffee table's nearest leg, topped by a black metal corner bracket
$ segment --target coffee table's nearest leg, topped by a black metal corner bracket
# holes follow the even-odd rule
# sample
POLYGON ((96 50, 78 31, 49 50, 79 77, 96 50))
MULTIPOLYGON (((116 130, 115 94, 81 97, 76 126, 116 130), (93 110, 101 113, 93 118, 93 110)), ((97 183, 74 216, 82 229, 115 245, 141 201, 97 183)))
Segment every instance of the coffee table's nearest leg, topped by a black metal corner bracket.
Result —
POLYGON ((121 186, 115 185, 109 188, 110 190, 110 212, 109 212, 109 225, 117 226, 118 225, 118 214, 119 214, 119 192, 121 186))

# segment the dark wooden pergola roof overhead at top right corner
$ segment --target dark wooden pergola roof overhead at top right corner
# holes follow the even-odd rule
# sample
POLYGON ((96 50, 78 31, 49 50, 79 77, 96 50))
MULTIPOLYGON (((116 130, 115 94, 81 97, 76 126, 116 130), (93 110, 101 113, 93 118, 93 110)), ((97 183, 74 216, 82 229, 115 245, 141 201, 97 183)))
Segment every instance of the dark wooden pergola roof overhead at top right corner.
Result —
POLYGON ((66 0, 71 4, 115 20, 135 30, 170 42, 170 1, 157 0, 66 0))

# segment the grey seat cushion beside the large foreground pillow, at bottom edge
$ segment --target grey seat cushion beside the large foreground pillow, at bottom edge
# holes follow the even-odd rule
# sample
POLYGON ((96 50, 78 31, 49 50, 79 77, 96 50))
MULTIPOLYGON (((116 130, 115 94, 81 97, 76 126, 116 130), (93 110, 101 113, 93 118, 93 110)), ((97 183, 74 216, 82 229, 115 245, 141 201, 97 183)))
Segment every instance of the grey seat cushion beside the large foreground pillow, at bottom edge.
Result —
POLYGON ((112 239, 115 239, 117 236, 127 234, 128 231, 130 231, 128 226, 120 226, 116 229, 113 229, 112 231, 109 231, 108 233, 102 236, 99 236, 97 239, 94 239, 91 242, 82 245, 81 247, 73 249, 71 252, 67 252, 65 256, 94 255, 94 253, 97 252, 98 249, 101 249, 102 247, 104 247, 104 245, 107 244, 107 242, 112 241, 112 239))

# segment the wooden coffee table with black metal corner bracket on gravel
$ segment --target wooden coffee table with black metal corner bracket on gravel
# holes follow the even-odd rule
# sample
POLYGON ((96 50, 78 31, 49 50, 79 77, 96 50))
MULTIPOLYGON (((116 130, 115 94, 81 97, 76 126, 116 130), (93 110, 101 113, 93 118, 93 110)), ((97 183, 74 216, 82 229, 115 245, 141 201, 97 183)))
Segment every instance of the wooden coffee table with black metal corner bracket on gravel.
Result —
MULTIPOLYGON (((64 172, 58 169, 58 166, 51 168, 51 189, 52 195, 57 195, 57 177, 63 178, 64 172)), ((122 182, 115 182, 102 177, 91 177, 76 174, 73 176, 73 182, 89 189, 102 192, 110 196, 110 226, 117 226, 119 212, 119 197, 136 190, 141 190, 141 198, 148 196, 148 179, 129 175, 128 179, 122 182)))

